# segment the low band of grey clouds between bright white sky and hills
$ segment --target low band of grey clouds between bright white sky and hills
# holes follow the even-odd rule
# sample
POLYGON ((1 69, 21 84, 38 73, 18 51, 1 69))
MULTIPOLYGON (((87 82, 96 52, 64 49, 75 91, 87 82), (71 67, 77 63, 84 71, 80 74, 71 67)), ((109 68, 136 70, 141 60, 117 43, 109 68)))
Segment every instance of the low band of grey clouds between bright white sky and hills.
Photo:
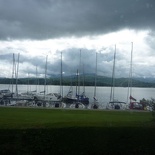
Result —
MULTIPOLYGON (((53 60, 53 56, 48 56, 47 62, 47 74, 49 76, 53 74, 60 74, 61 67, 61 57, 60 52, 62 52, 62 67, 64 75, 76 74, 77 69, 80 66, 80 49, 72 48, 66 49, 63 51, 57 51, 56 57, 53 60)), ((129 51, 130 53, 130 51, 129 51)), ((153 53, 153 51, 152 51, 153 53)), ((130 67, 130 57, 128 55, 122 54, 120 49, 117 49, 116 53, 116 66, 115 66, 115 76, 116 77, 128 77, 129 76, 129 67, 130 67)), ((15 54, 17 61, 17 53, 15 54)), ((150 57, 149 57, 150 58, 150 57)), ((114 47, 107 48, 104 52, 99 52, 97 54, 97 74, 102 76, 112 76, 113 69, 113 60, 114 59, 114 47)), ((145 59, 145 58, 144 58, 145 59)), ((149 59, 149 62, 153 61, 153 58, 149 59)), ((146 60, 145 60, 146 61, 146 60)), ((133 64, 133 76, 154 76, 154 65, 148 66, 145 65, 145 61, 141 61, 139 64, 133 64)), ((12 67, 12 51, 6 54, 0 54, 0 62, 3 64, 7 64, 12 67)), ((45 73, 45 63, 46 56, 29 56, 25 53, 20 54, 20 63, 19 63, 19 77, 25 77, 29 73, 31 76, 36 76, 36 66, 38 70, 38 74, 44 76, 45 73)), ((84 73, 95 73, 95 65, 96 65, 96 51, 81 49, 81 73, 83 72, 84 65, 84 73)), ((0 76, 4 76, 1 72, 0 76)))

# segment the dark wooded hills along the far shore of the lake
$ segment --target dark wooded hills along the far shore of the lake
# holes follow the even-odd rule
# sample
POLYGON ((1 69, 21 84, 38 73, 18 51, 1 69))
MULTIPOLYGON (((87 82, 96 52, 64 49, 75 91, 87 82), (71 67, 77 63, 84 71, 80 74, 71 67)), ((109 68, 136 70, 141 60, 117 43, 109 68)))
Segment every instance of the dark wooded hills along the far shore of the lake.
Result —
MULTIPOLYGON (((111 86, 112 78, 105 76, 97 76, 96 78, 97 86, 111 86)), ((84 77, 80 76, 80 85, 85 86, 94 86, 95 75, 94 74, 86 74, 84 77)), ((19 78, 18 84, 40 84, 44 85, 43 78, 19 78)), ((0 78, 0 84, 11 84, 12 79, 10 78, 0 78)), ((16 80, 13 80, 13 83, 16 83, 16 80)), ((63 85, 77 85, 77 76, 63 76, 63 85)), ((52 75, 50 78, 47 78, 47 85, 59 85, 60 84, 60 75, 52 75)), ((128 78, 115 78, 115 86, 116 87, 128 87, 128 78)), ((133 87, 155 87, 155 79, 154 78, 133 78, 132 79, 133 87)))

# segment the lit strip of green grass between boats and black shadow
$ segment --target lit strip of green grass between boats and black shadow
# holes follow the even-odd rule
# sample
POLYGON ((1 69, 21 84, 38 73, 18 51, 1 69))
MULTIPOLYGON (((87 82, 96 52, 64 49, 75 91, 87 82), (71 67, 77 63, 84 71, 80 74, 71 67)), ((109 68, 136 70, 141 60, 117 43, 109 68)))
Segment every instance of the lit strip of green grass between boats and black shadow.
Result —
POLYGON ((117 127, 151 125, 149 112, 0 108, 0 128, 117 127))

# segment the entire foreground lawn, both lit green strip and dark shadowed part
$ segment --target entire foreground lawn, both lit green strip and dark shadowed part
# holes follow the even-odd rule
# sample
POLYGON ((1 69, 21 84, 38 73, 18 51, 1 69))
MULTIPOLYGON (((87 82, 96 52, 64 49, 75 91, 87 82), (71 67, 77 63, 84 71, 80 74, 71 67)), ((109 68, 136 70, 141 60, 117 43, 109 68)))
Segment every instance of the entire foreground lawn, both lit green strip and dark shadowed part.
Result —
POLYGON ((0 154, 153 154, 149 112, 0 108, 0 154))

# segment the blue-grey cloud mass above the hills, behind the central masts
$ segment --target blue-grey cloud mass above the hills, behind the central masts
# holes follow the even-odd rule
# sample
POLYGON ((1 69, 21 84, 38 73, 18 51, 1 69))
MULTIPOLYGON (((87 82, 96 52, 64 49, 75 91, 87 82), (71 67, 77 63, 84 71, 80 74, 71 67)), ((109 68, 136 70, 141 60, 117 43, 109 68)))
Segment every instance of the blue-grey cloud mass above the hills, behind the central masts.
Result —
MULTIPOLYGON (((111 75, 111 63, 113 62, 113 49, 107 54, 97 53, 97 74, 105 75, 105 70, 109 68, 106 75, 111 75), (107 62, 107 57, 108 62, 107 62), (104 63, 107 62, 106 66, 104 63)), ((77 69, 81 74, 95 73, 96 68, 96 51, 88 49, 72 48, 62 51, 63 71, 66 75, 76 74, 77 69), (81 52, 80 52, 81 51, 81 52), (80 54, 81 53, 81 54, 80 54)), ((58 66, 58 64, 56 65, 58 66)), ((54 68, 56 68, 56 66, 54 68)), ((60 63, 59 63, 60 66, 60 63)))

